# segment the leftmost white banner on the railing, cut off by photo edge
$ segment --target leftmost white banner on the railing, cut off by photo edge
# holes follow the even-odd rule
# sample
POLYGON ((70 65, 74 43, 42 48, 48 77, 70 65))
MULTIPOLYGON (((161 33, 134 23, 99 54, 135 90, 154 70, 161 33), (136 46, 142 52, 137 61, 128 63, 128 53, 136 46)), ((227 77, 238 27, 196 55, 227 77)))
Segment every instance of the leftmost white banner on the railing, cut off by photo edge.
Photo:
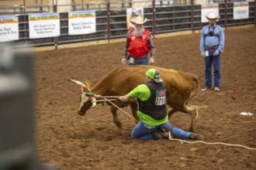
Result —
POLYGON ((0 42, 19 39, 19 19, 16 15, 0 16, 0 42))

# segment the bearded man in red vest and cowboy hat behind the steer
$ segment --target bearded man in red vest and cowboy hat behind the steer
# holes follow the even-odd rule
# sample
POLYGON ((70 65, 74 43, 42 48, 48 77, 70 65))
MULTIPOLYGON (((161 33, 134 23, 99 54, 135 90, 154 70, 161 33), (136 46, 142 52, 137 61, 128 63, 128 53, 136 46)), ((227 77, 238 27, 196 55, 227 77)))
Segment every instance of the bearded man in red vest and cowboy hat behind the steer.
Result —
POLYGON ((147 19, 137 16, 134 20, 135 28, 131 28, 126 37, 123 50, 122 63, 127 65, 153 65, 155 59, 155 47, 151 32, 144 28, 147 19), (150 59, 147 54, 150 52, 150 59))

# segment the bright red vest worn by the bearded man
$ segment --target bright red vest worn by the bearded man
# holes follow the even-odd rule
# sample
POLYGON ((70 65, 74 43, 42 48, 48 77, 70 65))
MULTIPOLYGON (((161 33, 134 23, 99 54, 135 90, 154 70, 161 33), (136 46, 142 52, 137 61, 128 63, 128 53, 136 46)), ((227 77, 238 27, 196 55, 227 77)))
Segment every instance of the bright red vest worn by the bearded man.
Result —
POLYGON ((150 36, 150 31, 144 29, 142 36, 133 36, 134 29, 130 29, 130 44, 128 46, 128 52, 130 55, 141 58, 146 56, 149 52, 148 48, 148 37, 150 36))

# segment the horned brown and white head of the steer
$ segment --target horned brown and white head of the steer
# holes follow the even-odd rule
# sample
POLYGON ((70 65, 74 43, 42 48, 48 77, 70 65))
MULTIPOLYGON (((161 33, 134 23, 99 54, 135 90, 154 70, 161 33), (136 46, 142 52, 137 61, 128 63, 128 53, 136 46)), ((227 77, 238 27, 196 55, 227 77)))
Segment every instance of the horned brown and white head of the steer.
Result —
POLYGON ((88 81, 85 81, 85 83, 81 83, 78 80, 72 80, 72 79, 68 79, 68 80, 70 80, 72 83, 75 83, 81 87, 81 97, 80 97, 81 104, 78 109, 78 114, 84 115, 88 109, 96 106, 95 97, 87 94, 88 92, 90 92, 89 89, 91 87, 91 83, 89 83, 88 81))

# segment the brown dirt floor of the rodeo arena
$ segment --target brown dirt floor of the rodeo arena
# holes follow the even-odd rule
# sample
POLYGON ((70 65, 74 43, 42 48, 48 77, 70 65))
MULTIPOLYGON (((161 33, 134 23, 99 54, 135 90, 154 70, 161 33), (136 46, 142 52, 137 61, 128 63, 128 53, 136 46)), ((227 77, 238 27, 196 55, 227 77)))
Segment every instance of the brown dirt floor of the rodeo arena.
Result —
MULTIPOLYGON (((256 29, 228 29, 221 56, 221 91, 209 90, 192 99, 202 107, 195 131, 206 142, 224 142, 256 148, 256 29), (234 93, 235 100, 231 98, 234 93), (241 112, 254 114, 242 116, 241 112)), ((204 87, 204 61, 199 54, 200 34, 154 39, 155 66, 199 76, 204 87)), ((186 144, 161 139, 130 138, 135 121, 118 112, 119 129, 110 107, 97 105, 85 116, 77 114, 80 87, 69 82, 99 82, 120 66, 124 42, 37 52, 36 142, 40 162, 60 170, 83 169, 256 169, 256 151, 238 146, 186 144)), ((130 108, 125 108, 130 113, 130 108)), ((130 113, 131 114, 131 113, 130 113)), ((171 124, 188 129, 190 117, 181 112, 171 124)))

